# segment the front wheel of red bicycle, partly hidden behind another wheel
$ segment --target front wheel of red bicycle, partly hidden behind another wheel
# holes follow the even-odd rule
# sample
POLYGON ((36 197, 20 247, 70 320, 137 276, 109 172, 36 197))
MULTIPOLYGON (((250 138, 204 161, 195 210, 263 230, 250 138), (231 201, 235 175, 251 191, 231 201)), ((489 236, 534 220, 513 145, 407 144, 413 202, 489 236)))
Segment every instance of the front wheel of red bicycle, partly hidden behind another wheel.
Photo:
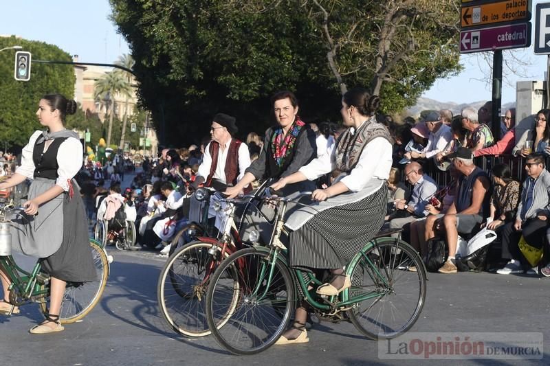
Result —
MULTIPOLYGON (((168 324, 189 337, 210 334, 205 314, 208 280, 221 256, 210 255, 211 243, 190 242, 181 247, 162 268, 157 284, 160 310, 168 324)), ((225 258, 229 253, 225 253, 225 258)))

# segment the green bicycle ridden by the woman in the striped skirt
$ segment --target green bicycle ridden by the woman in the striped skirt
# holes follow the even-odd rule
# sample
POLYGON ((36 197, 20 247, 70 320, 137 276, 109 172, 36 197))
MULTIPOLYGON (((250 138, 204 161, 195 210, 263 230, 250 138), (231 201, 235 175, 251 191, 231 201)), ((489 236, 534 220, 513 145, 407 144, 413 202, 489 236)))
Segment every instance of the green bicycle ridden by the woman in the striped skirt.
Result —
POLYGON ((233 354, 256 354, 285 332, 298 301, 297 286, 318 319, 350 321, 369 339, 391 339, 415 324, 426 299, 426 269, 415 249, 381 232, 345 267, 351 288, 320 296, 322 283, 289 267, 281 243, 288 198, 272 198, 277 224, 268 247, 236 251, 210 277, 206 318, 216 341, 233 354), (408 271, 416 267, 417 271, 408 271), (219 326, 223 324, 223 326, 219 326))

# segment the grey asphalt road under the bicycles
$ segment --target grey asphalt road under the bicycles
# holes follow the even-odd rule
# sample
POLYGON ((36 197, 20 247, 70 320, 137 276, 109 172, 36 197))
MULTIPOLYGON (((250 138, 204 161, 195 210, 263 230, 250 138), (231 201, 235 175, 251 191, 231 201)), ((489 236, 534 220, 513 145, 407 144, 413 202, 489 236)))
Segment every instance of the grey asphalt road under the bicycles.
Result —
MULTIPOLYGON (((232 356, 208 336, 185 339, 159 313, 157 277, 165 258, 152 252, 110 251, 114 257, 102 300, 80 323, 64 332, 28 333, 43 318, 38 306, 0 317, 3 365, 393 365, 426 363, 378 357, 376 341, 358 334, 350 323, 320 323, 305 345, 274 346, 255 356, 232 356)), ((28 263, 30 263, 27 260, 28 263)), ((550 363, 550 279, 492 273, 430 274, 426 306, 410 332, 541 332, 550 363)), ((428 361, 429 362, 429 361, 428 361)), ((441 360, 431 361, 441 364, 441 360)), ((461 365, 518 365, 518 360, 445 361, 461 365)))

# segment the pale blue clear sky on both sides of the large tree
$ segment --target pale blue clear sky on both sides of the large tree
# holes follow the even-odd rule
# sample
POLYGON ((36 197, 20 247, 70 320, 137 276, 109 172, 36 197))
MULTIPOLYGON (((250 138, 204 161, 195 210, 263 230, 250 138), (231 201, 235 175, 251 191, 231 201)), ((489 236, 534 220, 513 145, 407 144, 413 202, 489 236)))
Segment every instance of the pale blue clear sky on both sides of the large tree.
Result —
MULTIPOLYGON (((533 1, 533 13, 538 2, 542 1, 533 1)), ((108 0, 0 0, 0 3, 0 34, 57 45, 69 54, 78 54, 81 62, 111 63, 129 53, 126 41, 108 19, 111 14, 108 0)), ((423 96, 456 103, 489 100, 491 85, 478 81, 490 73, 489 66, 478 54, 473 55, 461 57, 465 71, 459 76, 438 80, 423 96)), ((525 77, 508 74, 506 80, 511 85, 503 83, 503 103, 516 100, 516 81, 542 80, 547 68, 547 56, 534 55, 532 45, 515 55, 530 66, 523 68, 525 77)), ((506 52, 504 58, 510 60, 506 52)))

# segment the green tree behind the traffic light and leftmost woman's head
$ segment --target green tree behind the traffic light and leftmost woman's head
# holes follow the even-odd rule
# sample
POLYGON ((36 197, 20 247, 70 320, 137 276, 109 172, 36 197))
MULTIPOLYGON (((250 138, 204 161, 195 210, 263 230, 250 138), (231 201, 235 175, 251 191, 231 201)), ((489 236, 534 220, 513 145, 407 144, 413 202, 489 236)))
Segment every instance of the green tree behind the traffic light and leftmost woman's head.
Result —
MULTIPOLYGON (((55 45, 0 37, 0 49, 19 45, 31 52, 34 60, 71 61, 71 56, 55 45)), ((70 65, 32 63, 30 80, 14 80, 14 53, 0 52, 0 142, 1 146, 24 146, 34 130, 43 128, 36 118, 40 98, 47 93, 74 96, 74 70, 70 65)))

